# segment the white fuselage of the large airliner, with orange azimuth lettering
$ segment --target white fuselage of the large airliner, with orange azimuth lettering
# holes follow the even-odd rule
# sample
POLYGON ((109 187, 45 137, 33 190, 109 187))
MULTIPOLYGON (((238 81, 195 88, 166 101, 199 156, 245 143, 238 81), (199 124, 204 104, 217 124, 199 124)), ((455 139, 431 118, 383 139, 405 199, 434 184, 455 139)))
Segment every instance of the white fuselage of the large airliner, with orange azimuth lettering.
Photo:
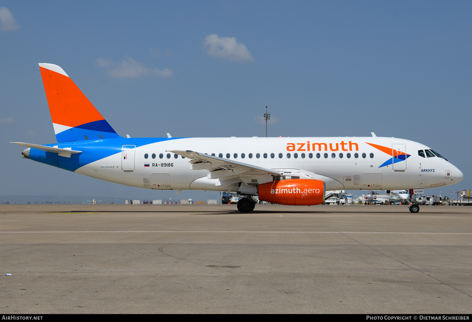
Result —
MULTIPOLYGON (((133 140, 127 139, 127 145, 133 145, 133 140)), ((417 142, 394 137, 178 138, 137 146, 132 151, 134 164, 128 163, 128 168, 123 166, 122 153, 115 153, 89 163, 75 172, 123 185, 160 190, 236 192, 241 181, 251 185, 251 180, 245 180, 244 175, 210 179, 207 177, 208 170, 191 169, 190 159, 167 152, 191 150, 210 155, 214 153, 217 157, 221 153, 223 158, 227 158, 229 153, 229 160, 277 169, 287 177, 320 179, 325 182, 326 190, 431 188, 452 185, 462 180, 462 172, 445 159, 421 157, 418 150, 424 149, 429 148, 417 142), (404 152, 409 156, 406 160, 381 167, 392 159, 392 155, 386 153, 386 149, 381 151, 367 143, 386 147, 387 150, 392 149, 392 146, 403 146, 404 152), (153 154, 155 158, 152 158, 153 154), (130 164, 134 169, 129 170, 130 164), (223 179, 224 181, 221 181, 223 179)), ((257 184, 272 180, 272 176, 263 175, 258 178, 257 184)))

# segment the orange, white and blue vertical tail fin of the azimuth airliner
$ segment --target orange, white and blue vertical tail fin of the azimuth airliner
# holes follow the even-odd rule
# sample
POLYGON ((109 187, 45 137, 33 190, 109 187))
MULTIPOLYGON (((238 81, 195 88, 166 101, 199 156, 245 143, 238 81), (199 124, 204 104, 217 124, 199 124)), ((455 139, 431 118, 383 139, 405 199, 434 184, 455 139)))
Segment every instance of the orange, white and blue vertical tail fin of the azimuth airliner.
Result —
POLYGON ((40 63, 39 69, 58 142, 118 137, 62 68, 40 63))

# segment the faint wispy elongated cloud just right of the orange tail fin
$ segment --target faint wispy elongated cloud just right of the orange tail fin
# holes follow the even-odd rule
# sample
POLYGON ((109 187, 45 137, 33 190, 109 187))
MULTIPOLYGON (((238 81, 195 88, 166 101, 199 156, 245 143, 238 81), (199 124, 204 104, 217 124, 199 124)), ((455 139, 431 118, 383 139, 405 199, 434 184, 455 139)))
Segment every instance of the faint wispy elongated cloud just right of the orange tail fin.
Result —
POLYGON ((95 62, 101 67, 113 66, 108 69, 107 74, 115 78, 139 78, 152 75, 160 77, 172 76, 172 70, 168 68, 163 70, 159 68, 147 68, 142 63, 136 62, 132 57, 127 57, 118 64, 113 64, 111 60, 103 58, 98 58, 95 62))

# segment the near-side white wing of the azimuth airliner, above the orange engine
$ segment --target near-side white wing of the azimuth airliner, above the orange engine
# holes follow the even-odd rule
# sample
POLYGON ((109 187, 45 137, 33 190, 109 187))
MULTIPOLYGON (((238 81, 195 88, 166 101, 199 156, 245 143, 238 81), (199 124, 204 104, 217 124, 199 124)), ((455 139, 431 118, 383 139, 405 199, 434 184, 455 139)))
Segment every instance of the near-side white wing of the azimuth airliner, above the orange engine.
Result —
POLYGON ((214 171, 219 168, 219 169, 224 169, 224 170, 233 170, 232 171, 233 175, 243 174, 243 173, 247 175, 264 175, 264 174, 280 175, 280 172, 273 169, 262 168, 262 167, 258 167, 252 164, 223 159, 217 156, 194 152, 190 150, 186 150, 186 151, 175 150, 175 151, 166 151, 166 152, 176 153, 185 158, 189 158, 191 160, 190 163, 192 163, 193 169, 207 169, 209 171, 214 171))

